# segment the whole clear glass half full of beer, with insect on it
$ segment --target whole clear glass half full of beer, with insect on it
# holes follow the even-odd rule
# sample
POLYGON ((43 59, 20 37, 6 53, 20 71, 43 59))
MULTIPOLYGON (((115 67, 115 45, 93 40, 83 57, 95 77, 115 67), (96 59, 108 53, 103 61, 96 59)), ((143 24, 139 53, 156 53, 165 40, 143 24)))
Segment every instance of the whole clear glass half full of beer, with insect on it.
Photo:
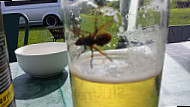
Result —
POLYGON ((63 0, 74 107, 157 107, 169 0, 63 0))

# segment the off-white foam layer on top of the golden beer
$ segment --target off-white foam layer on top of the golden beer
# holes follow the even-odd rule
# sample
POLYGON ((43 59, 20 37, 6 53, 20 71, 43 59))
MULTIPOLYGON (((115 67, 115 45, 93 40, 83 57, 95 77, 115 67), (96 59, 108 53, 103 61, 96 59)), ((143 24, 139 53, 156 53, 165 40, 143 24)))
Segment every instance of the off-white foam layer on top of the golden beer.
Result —
POLYGON ((148 46, 104 51, 113 61, 100 53, 82 54, 73 60, 70 71, 79 78, 102 82, 122 83, 145 80, 157 76, 162 71, 162 60, 148 46))

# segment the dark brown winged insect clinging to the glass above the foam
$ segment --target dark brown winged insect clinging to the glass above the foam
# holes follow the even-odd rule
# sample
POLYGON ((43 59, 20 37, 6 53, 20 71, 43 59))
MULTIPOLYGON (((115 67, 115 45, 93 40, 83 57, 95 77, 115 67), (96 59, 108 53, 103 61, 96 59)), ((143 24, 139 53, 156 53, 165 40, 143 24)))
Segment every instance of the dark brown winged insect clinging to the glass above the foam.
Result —
POLYGON ((76 34, 79 38, 76 40, 75 45, 77 46, 84 46, 84 50, 78 55, 78 57, 84 53, 87 49, 87 47, 90 47, 91 50, 91 61, 90 61, 90 66, 91 68, 93 68, 92 65, 92 60, 93 60, 93 49, 95 49, 96 51, 98 51, 99 53, 101 53, 102 55, 104 55, 106 58, 108 58, 110 61, 112 61, 112 59, 106 54, 104 53, 101 49, 98 49, 95 45, 98 46, 104 46, 105 44, 109 43, 112 39, 112 35, 110 33, 107 33, 106 30, 114 23, 114 20, 109 20, 108 22, 106 22, 104 25, 102 25, 100 28, 97 27, 97 19, 95 19, 95 27, 94 27, 94 32, 88 32, 88 31, 78 31, 78 32, 74 32, 74 34, 76 34), (88 33, 88 36, 84 36, 84 33, 88 33), (80 35, 82 34, 82 37, 80 37, 80 35))

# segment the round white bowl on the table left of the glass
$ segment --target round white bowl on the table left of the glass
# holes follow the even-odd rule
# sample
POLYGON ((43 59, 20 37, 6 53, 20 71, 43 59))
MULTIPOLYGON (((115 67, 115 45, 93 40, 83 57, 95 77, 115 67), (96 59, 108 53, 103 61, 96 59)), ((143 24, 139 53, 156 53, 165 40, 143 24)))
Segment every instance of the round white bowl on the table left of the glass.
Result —
POLYGON ((66 43, 46 42, 23 46, 15 50, 20 68, 36 77, 61 73, 68 65, 66 43))

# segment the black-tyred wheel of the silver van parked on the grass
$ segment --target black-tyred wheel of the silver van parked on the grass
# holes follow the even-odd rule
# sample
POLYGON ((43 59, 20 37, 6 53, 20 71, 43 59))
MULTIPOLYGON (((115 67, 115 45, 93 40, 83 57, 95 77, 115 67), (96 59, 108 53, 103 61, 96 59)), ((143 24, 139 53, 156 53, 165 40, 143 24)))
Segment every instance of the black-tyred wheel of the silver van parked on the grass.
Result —
POLYGON ((48 15, 46 18, 45 18, 45 21, 44 21, 45 25, 47 26, 55 26, 59 23, 59 19, 57 16, 55 15, 48 15))

